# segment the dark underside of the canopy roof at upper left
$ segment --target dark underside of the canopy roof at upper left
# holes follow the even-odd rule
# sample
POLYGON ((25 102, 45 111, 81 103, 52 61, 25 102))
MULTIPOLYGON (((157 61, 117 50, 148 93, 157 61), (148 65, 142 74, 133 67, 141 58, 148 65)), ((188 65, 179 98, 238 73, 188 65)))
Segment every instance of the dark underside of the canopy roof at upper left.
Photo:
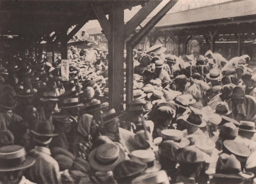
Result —
POLYGON ((144 5, 146 0, 34 0, 2 1, 0 10, 1 35, 49 35, 72 25, 96 20, 94 9, 105 15, 111 8, 131 9, 144 5), (92 8, 93 6, 93 8, 92 8))

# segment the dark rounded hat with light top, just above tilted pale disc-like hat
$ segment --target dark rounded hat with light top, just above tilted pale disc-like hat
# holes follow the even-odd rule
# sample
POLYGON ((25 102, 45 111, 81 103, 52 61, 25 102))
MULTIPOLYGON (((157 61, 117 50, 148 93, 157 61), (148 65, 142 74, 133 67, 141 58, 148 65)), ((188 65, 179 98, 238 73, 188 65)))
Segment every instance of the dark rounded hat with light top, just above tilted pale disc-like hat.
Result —
POLYGON ((237 136, 237 127, 233 123, 225 123, 221 126, 219 136, 224 139, 235 139, 237 136))

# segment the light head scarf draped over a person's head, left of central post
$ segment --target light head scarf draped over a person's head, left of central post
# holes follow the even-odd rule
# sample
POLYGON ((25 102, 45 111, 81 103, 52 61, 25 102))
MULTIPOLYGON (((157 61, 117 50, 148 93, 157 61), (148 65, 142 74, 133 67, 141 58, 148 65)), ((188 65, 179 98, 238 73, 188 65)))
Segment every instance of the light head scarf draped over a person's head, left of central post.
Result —
POLYGON ((77 130, 79 133, 81 133, 83 136, 87 137, 90 135, 90 127, 93 122, 93 116, 90 114, 83 114, 78 122, 77 130))

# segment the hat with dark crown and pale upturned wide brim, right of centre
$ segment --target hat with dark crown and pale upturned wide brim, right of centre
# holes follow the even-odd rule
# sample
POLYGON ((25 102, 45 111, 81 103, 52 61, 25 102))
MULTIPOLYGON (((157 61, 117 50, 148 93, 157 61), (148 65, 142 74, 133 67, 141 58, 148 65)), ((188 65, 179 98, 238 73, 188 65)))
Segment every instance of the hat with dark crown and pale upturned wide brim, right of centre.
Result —
POLYGON ((206 122, 203 120, 202 114, 194 111, 191 111, 183 116, 180 116, 177 119, 183 119, 183 121, 187 122, 189 125, 193 125, 196 127, 206 126, 206 122))

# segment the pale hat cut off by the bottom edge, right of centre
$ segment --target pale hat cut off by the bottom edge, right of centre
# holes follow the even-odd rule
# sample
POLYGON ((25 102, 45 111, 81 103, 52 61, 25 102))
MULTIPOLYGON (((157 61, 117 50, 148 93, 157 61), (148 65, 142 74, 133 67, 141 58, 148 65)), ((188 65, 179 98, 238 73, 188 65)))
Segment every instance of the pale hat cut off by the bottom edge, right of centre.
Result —
POLYGON ((155 173, 148 173, 143 176, 139 176, 131 181, 132 184, 169 184, 169 178, 166 171, 160 170, 155 173))

